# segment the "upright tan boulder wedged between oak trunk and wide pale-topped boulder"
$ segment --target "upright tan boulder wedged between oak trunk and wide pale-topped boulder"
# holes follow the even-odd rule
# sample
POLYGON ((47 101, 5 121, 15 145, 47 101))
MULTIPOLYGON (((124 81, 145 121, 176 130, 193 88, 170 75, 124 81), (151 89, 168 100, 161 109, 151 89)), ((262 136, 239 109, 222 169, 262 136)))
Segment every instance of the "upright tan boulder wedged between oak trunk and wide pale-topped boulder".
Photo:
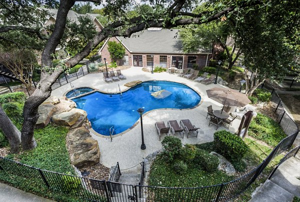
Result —
POLYGON ((38 107, 39 117, 36 121, 35 128, 43 128, 50 122, 52 114, 55 112, 56 106, 49 102, 42 103, 38 107))

